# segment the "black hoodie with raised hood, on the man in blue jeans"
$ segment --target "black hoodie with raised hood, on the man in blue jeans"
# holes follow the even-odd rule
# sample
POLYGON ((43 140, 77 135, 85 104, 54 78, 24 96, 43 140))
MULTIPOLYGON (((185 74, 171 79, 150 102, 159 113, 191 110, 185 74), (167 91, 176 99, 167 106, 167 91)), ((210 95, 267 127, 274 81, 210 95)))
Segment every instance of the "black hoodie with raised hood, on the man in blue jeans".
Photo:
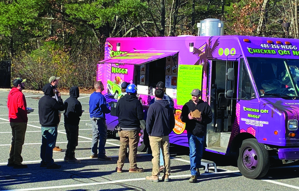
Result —
POLYGON ((54 92, 49 83, 42 88, 42 91, 45 95, 38 102, 39 123, 42 127, 57 127, 58 111, 64 110, 63 101, 61 97, 58 97, 58 101, 52 98, 54 92))

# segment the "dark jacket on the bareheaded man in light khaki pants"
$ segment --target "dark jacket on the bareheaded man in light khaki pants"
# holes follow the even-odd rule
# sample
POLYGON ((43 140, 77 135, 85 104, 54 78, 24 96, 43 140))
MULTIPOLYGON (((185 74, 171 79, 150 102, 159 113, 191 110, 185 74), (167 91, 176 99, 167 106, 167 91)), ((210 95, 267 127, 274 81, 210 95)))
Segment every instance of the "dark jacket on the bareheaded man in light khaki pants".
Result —
POLYGON ((167 100, 156 100, 147 111, 147 133, 168 136, 175 125, 173 109, 167 100))

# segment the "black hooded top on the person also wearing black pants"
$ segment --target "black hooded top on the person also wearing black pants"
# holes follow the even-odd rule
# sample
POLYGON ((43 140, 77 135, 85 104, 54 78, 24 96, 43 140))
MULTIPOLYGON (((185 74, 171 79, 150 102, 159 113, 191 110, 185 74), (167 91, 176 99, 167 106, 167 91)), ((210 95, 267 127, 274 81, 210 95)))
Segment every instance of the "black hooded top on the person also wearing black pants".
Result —
POLYGON ((74 86, 70 88, 70 97, 64 101, 64 124, 79 125, 82 116, 82 106, 77 100, 79 97, 79 88, 74 86))

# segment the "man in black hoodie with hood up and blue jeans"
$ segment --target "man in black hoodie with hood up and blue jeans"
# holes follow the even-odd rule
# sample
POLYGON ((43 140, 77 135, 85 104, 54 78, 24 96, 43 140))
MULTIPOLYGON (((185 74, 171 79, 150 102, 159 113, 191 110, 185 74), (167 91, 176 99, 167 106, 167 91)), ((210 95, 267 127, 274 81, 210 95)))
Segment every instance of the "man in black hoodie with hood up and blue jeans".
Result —
POLYGON ((59 123, 58 111, 63 111, 63 101, 58 94, 58 101, 54 98, 54 91, 51 84, 46 84, 42 91, 44 96, 40 98, 39 123, 42 125, 42 146, 40 147, 40 158, 42 159, 40 167, 47 169, 59 169, 61 165, 57 165, 53 160, 53 148, 57 138, 57 124, 59 123))

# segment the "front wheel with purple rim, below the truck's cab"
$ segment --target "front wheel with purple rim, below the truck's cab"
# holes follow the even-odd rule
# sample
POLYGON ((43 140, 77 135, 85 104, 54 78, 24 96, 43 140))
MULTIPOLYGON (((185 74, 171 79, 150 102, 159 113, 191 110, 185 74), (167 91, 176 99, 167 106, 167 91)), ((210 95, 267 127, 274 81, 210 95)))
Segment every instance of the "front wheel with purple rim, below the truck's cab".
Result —
POLYGON ((270 166, 269 153, 257 139, 246 139, 239 150, 238 168, 246 178, 264 177, 270 166))

